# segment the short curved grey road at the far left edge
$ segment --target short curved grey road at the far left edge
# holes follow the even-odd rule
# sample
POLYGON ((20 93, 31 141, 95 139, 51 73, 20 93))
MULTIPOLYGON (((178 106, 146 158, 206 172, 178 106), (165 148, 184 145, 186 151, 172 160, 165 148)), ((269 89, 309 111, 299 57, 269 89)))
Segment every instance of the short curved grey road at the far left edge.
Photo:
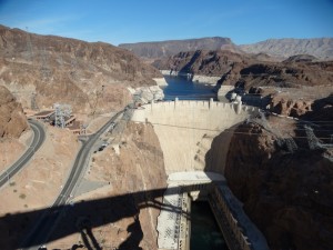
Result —
POLYGON ((24 164, 32 158, 36 151, 42 146, 46 139, 46 131, 43 126, 34 120, 29 120, 30 127, 33 131, 33 140, 23 156, 17 160, 11 167, 9 167, 0 176, 0 188, 4 186, 9 180, 18 173, 24 164))

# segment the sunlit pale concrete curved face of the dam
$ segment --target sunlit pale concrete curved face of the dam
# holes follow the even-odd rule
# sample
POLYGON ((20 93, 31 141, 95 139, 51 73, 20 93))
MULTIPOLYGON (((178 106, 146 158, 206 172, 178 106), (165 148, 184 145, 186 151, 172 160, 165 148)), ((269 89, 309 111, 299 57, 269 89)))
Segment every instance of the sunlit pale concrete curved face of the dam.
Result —
MULTIPOLYGON (((205 153, 212 140, 225 130, 230 130, 231 138, 231 127, 256 112, 258 108, 239 103, 175 100, 141 107, 132 120, 153 124, 164 154, 165 171, 170 174, 204 170, 205 153)), ((224 159, 228 147, 226 138, 225 148, 221 149, 224 159)))

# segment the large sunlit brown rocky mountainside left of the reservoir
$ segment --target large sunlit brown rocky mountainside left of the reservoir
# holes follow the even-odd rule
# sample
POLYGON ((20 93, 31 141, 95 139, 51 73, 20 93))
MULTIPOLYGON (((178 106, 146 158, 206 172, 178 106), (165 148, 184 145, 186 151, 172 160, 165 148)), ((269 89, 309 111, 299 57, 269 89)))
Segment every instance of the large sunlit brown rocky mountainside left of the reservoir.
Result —
POLYGON ((153 67, 124 49, 0 26, 0 84, 23 108, 72 104, 83 113, 108 112, 129 102, 127 87, 152 86, 153 67))

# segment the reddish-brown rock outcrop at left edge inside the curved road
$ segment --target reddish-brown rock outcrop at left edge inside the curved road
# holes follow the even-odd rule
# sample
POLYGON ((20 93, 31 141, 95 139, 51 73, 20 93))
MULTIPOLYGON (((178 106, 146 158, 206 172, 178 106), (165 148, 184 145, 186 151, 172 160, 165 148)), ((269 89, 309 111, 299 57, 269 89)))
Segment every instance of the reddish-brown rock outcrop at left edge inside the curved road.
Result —
POLYGON ((0 86, 0 139, 19 138, 28 129, 22 107, 8 89, 0 86))

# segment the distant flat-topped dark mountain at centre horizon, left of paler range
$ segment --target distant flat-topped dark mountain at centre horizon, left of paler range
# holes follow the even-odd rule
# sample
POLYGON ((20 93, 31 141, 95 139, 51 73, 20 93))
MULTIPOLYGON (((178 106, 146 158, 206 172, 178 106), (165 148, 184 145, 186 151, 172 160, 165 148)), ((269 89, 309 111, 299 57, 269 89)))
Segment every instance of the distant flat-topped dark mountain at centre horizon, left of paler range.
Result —
POLYGON ((221 50, 228 49, 236 51, 235 44, 230 38, 200 38, 186 40, 169 40, 158 42, 138 42, 123 43, 119 47, 134 52, 137 56, 144 59, 159 59, 170 57, 179 52, 195 51, 195 50, 221 50))

